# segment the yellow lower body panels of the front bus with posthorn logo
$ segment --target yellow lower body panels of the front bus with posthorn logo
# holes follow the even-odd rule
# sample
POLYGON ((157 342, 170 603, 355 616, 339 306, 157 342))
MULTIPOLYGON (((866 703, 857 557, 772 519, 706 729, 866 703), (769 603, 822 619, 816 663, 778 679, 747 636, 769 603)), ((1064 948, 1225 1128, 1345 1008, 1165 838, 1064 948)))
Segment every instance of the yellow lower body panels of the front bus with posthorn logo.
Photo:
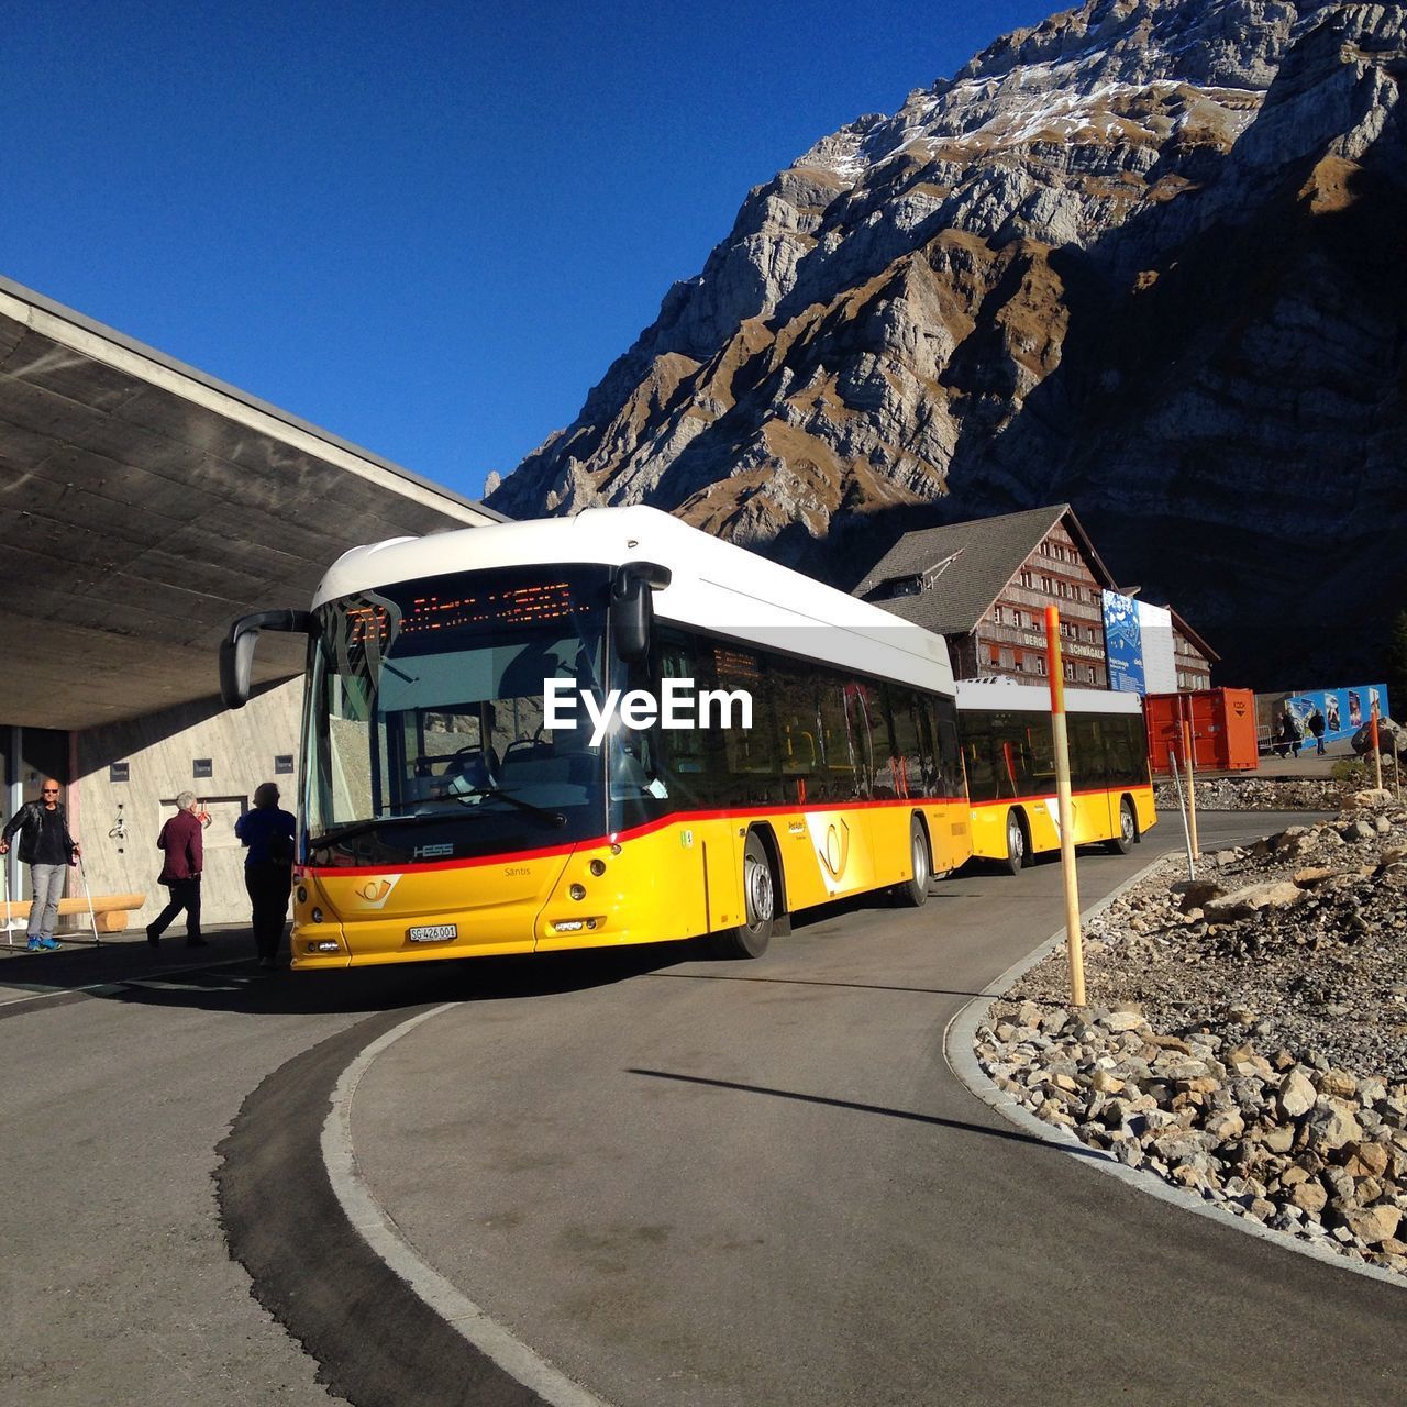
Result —
POLYGON ((795 913, 912 879, 915 815, 923 817, 934 874, 968 858, 967 801, 912 799, 684 813, 613 840, 470 864, 303 870, 294 884, 293 965, 345 968, 699 937, 743 917, 750 829, 771 843, 785 910, 795 913), (584 891, 581 899, 573 898, 573 886, 584 891), (453 924, 456 937, 409 937, 412 929, 439 924, 453 924))

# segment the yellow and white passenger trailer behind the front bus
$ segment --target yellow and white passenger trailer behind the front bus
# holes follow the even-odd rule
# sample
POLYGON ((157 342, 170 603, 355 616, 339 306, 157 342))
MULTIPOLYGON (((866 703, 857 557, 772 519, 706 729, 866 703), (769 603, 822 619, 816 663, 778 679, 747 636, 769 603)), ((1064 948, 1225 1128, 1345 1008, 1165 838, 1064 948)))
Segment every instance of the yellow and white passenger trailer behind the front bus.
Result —
MULTIPOLYGON (((962 767, 972 802, 972 854, 1017 874, 1059 848, 1050 689, 1010 682, 957 687, 962 767)), ((1155 823, 1142 701, 1065 689, 1075 844, 1127 854, 1155 823)))

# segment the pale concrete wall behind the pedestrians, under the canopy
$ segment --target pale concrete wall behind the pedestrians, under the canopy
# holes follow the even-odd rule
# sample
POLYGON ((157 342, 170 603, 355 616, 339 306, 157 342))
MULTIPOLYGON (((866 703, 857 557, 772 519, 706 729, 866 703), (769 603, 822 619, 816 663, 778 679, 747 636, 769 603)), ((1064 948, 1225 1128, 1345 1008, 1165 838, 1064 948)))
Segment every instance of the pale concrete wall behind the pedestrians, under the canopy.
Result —
MULTIPOLYGON (((69 813, 93 893, 141 892, 146 905, 128 920, 139 931, 166 903, 156 882, 162 853, 156 836, 174 812, 176 794, 193 791, 211 815, 205 829, 203 916, 210 923, 245 923, 245 851, 234 825, 253 805, 253 791, 272 781, 281 805, 295 812, 303 680, 273 685, 238 712, 219 699, 180 705, 125 723, 75 733, 75 782, 69 813), (293 757, 294 772, 274 774, 277 756, 293 757), (196 777, 197 760, 210 777, 196 777), (113 781, 113 764, 127 764, 127 781, 113 781), (125 834, 114 834, 113 832, 125 834)), ((82 893, 76 878, 70 893, 82 893)), ((84 917, 79 927, 86 926, 84 917)), ((176 933, 183 933, 177 920, 176 933)))

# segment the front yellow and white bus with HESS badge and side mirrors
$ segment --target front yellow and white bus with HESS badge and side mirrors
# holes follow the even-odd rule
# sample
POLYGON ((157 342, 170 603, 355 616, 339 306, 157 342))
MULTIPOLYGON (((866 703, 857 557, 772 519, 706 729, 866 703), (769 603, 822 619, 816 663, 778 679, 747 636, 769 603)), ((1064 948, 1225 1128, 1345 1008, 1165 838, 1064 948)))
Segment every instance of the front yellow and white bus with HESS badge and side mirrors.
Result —
POLYGON ((346 553, 311 611, 293 965, 709 936, 922 903, 969 855, 940 636, 650 508, 346 553))

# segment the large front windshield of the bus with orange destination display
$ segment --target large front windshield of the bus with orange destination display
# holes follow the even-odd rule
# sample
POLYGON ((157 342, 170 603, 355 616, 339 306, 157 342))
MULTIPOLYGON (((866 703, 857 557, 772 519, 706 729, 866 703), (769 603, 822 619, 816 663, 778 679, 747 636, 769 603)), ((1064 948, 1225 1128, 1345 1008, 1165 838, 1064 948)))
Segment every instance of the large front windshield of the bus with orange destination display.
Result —
POLYGON ((605 830, 604 764, 553 737, 543 688, 604 678, 604 567, 397 582, 317 612, 308 687, 311 862, 453 860, 605 830))

